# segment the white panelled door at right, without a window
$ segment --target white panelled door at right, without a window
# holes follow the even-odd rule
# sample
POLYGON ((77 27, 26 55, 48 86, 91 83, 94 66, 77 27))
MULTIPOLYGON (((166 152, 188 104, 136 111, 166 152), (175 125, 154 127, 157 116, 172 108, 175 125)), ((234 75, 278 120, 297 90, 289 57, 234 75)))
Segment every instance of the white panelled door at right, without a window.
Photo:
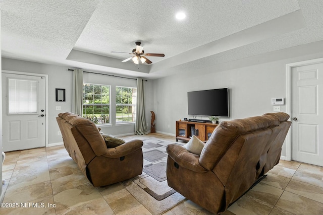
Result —
POLYGON ((323 63, 292 68, 292 160, 323 166, 323 63))

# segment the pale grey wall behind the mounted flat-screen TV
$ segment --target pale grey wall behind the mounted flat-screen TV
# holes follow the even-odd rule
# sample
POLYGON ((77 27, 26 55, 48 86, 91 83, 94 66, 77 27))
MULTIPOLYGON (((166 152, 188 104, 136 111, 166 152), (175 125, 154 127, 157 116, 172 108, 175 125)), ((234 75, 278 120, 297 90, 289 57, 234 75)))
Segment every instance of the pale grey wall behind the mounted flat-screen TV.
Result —
MULTIPOLYGON (((154 80, 156 130, 175 135, 175 121, 192 118, 187 115, 188 91, 229 87, 230 117, 221 120, 274 112, 271 98, 286 98, 286 64, 322 56, 321 52, 230 70, 219 70, 214 66, 179 71, 178 75, 154 80)), ((286 112, 286 105, 281 106, 281 111, 286 112)), ((285 155, 283 146, 282 156, 285 155)))

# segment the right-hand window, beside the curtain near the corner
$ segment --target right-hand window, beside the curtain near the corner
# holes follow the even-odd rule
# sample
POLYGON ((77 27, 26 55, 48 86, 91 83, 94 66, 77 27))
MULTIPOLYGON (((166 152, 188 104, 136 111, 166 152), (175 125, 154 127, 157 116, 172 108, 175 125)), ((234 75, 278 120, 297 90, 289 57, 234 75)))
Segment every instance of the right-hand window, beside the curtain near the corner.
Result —
POLYGON ((116 87, 116 122, 136 120, 137 88, 116 87))

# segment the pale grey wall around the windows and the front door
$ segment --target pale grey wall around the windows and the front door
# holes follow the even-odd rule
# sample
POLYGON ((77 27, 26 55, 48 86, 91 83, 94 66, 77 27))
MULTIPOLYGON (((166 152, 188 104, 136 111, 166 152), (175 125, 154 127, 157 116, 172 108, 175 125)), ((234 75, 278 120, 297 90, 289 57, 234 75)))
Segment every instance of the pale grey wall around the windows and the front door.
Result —
MULTIPOLYGON (((62 144, 62 136, 58 135, 60 128, 57 124, 56 117, 61 112, 70 112, 72 110, 72 71, 69 71, 66 66, 50 65, 43 63, 35 63, 30 61, 2 58, 3 70, 22 71, 25 73, 47 74, 49 79, 49 116, 48 116, 48 142, 49 145, 62 144), (56 102, 55 89, 66 89, 66 102, 56 102), (61 110, 56 110, 56 106, 61 106, 61 110)), ((111 85, 112 91, 115 92, 115 86, 136 87, 136 80, 116 78, 105 75, 84 73, 84 82, 90 84, 104 84, 111 85)), ((145 82, 145 117, 150 125, 150 110, 153 108, 153 81, 148 80, 145 82)), ((112 95, 112 99, 115 94, 112 95)), ((112 100, 113 101, 113 100, 112 100)), ((113 115, 112 115, 113 116, 113 115)), ((113 118, 114 119, 114 118, 113 118)), ((114 120, 112 120, 114 121, 114 120)), ((107 134, 122 135, 134 133, 134 124, 102 126, 102 131, 107 134)), ((149 126, 150 128, 150 126, 149 126)), ((148 129, 149 129, 148 128, 148 129)))

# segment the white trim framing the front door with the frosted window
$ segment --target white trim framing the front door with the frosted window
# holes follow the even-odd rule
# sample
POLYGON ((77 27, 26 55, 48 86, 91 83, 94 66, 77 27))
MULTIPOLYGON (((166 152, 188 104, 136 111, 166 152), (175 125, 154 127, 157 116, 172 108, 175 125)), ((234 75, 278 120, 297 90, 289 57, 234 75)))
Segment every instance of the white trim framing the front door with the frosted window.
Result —
POLYGON ((11 71, 11 70, 2 70, 2 74, 14 74, 14 75, 25 75, 25 76, 37 76, 45 77, 45 147, 48 147, 49 138, 48 138, 48 75, 39 74, 39 73, 25 73, 23 71, 11 71))

